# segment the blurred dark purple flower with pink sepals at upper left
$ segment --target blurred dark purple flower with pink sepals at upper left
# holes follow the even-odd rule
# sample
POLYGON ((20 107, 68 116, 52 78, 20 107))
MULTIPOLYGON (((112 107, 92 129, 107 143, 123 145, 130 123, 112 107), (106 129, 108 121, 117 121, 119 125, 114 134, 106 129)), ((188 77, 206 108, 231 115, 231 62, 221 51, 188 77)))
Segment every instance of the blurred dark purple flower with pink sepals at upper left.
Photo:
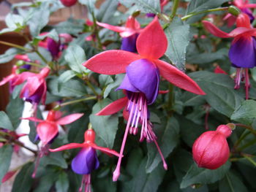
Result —
MULTIPOLYGON (((42 33, 40 35, 45 35, 48 33, 42 33)), ((53 56, 53 59, 59 58, 61 56, 61 51, 65 49, 65 43, 72 42, 72 36, 69 34, 59 34, 59 42, 54 39, 47 37, 44 41, 39 42, 39 47, 44 47, 53 56)))

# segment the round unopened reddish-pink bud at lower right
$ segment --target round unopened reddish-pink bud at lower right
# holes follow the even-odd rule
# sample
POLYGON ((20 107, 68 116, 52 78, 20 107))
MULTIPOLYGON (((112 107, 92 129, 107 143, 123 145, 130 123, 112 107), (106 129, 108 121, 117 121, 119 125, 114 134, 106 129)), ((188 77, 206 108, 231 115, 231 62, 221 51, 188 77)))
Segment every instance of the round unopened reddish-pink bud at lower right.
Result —
POLYGON ((216 131, 206 131, 195 140, 192 147, 193 158, 199 167, 217 169, 225 164, 230 155, 227 137, 232 130, 221 125, 216 131))

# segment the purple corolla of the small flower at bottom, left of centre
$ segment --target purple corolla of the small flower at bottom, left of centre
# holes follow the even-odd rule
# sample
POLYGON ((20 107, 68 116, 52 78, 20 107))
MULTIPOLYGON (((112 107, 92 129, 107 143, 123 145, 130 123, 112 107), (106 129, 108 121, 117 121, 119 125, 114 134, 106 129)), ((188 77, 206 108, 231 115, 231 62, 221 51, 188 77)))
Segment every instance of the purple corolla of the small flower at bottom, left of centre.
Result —
POLYGON ((99 167, 96 151, 92 147, 82 148, 78 155, 73 158, 71 166, 77 174, 90 174, 99 167))

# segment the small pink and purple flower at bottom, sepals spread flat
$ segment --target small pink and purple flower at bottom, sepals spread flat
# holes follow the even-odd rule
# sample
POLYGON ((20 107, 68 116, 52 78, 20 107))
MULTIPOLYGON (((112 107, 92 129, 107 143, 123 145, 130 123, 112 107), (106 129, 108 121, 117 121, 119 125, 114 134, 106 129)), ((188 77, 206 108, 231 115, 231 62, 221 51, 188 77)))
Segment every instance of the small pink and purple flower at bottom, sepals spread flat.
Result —
POLYGON ((83 185, 85 185, 86 192, 91 191, 91 172, 94 169, 98 169, 99 167, 99 160, 97 158, 96 150, 101 150, 103 153, 107 153, 108 155, 119 156, 119 153, 117 153, 115 150, 110 150, 106 147, 99 147, 94 143, 94 140, 95 132, 93 129, 89 128, 84 133, 83 143, 69 143, 56 149, 50 149, 51 152, 56 152, 61 150, 82 148, 78 155, 73 158, 71 164, 73 172, 77 174, 83 174, 83 179, 79 191, 83 190, 83 185))

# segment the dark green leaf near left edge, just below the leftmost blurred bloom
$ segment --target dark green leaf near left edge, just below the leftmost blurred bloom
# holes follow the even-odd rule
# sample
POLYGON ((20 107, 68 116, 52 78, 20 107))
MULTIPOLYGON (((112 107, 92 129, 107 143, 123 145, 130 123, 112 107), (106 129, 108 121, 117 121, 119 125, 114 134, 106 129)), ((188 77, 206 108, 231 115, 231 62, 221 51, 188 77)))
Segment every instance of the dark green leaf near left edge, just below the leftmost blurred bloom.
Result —
POLYGON ((20 125, 20 118, 24 108, 24 101, 20 98, 12 99, 7 105, 7 115, 9 115, 13 127, 16 129, 20 125))

